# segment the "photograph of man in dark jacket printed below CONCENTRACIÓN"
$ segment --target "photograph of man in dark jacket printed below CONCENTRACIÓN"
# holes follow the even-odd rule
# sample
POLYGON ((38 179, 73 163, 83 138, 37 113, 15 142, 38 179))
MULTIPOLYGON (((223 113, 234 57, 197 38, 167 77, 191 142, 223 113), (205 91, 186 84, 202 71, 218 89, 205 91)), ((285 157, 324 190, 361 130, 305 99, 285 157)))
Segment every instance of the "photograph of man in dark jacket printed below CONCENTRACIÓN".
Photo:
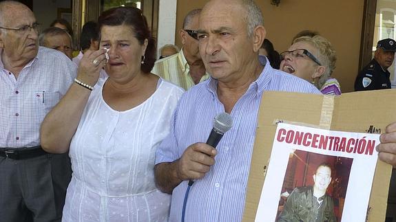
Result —
POLYGON ((352 158, 290 154, 277 221, 341 221, 352 158))

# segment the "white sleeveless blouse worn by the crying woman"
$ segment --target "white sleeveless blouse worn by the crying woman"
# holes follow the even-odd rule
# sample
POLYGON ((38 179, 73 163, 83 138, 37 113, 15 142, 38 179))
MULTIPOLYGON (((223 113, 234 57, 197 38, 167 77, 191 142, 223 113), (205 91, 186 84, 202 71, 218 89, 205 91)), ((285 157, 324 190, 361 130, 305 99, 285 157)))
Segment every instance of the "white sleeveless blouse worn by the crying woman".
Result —
POLYGON ((114 111, 96 84, 70 144, 63 221, 167 221, 170 195, 154 184, 156 148, 183 89, 165 80, 145 102, 114 111))

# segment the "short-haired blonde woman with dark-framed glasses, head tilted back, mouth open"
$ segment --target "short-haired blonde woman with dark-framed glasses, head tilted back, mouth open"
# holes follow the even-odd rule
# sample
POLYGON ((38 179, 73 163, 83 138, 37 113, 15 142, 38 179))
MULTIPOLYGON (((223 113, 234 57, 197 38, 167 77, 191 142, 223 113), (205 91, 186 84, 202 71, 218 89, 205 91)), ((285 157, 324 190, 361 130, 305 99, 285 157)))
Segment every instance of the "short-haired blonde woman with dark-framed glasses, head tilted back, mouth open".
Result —
POLYGON ((340 95, 340 83, 330 78, 335 69, 335 50, 320 35, 301 36, 293 41, 289 51, 280 54, 280 70, 312 82, 326 95, 340 95))

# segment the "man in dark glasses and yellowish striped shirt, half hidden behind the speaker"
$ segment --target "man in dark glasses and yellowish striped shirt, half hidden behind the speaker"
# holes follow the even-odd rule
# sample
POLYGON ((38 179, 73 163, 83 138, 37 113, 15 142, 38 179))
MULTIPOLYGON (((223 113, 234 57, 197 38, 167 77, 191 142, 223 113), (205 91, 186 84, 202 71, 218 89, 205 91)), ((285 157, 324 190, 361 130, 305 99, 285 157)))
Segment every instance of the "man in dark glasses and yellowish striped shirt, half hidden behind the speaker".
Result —
POLYGON ((185 17, 183 30, 180 30, 183 43, 180 52, 158 60, 152 70, 152 73, 186 90, 209 78, 198 49, 196 30, 200 11, 192 10, 185 17))

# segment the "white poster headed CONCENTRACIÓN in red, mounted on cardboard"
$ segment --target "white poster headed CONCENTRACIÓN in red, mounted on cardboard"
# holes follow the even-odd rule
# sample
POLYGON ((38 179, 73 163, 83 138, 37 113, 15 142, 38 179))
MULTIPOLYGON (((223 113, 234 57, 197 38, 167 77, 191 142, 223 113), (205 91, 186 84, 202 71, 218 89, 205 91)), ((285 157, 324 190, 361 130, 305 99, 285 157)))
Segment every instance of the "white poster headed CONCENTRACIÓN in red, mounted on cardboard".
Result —
POLYGON ((365 221, 379 135, 278 124, 255 221, 365 221))

